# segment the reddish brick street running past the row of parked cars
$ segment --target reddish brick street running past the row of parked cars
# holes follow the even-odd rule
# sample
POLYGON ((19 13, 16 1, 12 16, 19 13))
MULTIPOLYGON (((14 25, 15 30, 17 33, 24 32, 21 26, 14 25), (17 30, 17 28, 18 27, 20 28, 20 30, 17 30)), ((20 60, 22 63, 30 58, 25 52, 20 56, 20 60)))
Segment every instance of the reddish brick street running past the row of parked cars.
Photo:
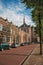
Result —
POLYGON ((0 65, 21 65, 37 44, 0 51, 0 65))

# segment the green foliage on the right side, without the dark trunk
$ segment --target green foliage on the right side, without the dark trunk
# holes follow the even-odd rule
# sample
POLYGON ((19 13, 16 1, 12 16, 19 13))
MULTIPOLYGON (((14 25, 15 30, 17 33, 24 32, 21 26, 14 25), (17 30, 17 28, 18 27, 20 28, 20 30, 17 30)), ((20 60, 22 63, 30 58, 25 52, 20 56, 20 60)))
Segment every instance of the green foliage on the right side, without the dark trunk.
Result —
POLYGON ((39 33, 39 19, 38 14, 40 13, 41 19, 41 37, 43 40, 43 0, 21 0, 27 8, 32 9, 32 20, 36 24, 37 33, 39 33))

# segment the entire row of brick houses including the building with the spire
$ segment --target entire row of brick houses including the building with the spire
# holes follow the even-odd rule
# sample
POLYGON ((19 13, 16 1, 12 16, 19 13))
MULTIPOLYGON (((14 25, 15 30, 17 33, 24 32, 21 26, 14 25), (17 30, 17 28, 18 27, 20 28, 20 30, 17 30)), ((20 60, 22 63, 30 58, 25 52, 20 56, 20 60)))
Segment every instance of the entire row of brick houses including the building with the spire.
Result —
POLYGON ((36 41, 39 42, 39 36, 33 26, 25 23, 25 18, 23 18, 23 24, 18 27, 0 17, 0 42, 8 42, 11 45, 12 43, 22 44, 36 41))

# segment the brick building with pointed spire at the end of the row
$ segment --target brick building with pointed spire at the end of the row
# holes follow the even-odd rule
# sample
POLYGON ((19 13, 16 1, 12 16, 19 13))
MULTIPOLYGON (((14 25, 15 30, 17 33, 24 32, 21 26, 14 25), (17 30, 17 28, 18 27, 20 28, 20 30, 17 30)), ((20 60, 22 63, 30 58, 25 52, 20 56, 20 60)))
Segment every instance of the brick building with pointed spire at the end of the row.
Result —
POLYGON ((26 32, 28 37, 28 42, 39 42, 39 36, 35 32, 35 27, 27 25, 25 23, 25 17, 23 19, 23 24, 19 28, 22 31, 26 32))

